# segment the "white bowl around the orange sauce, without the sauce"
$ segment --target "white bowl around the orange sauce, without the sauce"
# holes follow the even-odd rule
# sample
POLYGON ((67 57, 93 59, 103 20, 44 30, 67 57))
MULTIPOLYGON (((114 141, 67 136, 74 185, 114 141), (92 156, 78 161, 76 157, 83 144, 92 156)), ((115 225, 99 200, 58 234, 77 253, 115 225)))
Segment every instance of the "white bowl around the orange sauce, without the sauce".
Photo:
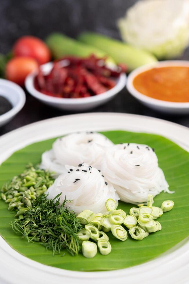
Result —
POLYGON ((132 71, 127 79, 126 87, 130 94, 134 96, 137 100, 139 100, 143 105, 146 105, 149 108, 154 110, 165 112, 168 114, 188 114, 189 113, 189 102, 188 103, 176 103, 170 101, 162 101, 150 98, 140 92, 138 92, 135 87, 133 86, 133 79, 140 73, 147 71, 151 68, 159 68, 159 67, 166 67, 166 66, 188 66, 189 61, 183 60, 168 60, 168 61, 160 61, 153 64, 148 64, 141 66, 134 71, 132 71))

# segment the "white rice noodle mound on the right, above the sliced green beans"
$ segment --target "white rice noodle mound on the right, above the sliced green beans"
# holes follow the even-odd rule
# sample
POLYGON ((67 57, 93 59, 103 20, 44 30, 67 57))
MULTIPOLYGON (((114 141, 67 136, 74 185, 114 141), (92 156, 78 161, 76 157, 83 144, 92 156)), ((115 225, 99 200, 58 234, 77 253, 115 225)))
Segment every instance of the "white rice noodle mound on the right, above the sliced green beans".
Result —
POLYGON ((108 148, 102 171, 124 202, 143 203, 148 194, 172 193, 154 150, 147 145, 124 143, 108 148))

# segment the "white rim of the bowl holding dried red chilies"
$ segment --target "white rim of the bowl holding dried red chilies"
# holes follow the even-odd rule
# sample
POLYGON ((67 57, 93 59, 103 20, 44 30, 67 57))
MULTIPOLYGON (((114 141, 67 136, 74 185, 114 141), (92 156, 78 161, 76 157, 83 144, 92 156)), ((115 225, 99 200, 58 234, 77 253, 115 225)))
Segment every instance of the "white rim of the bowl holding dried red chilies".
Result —
MULTIPOLYGON (((41 65, 42 70, 46 72, 46 70, 50 70, 50 68, 52 68, 52 62, 46 63, 41 65)), ((64 105, 72 105, 72 104, 88 104, 88 103, 94 103, 96 101, 103 101, 107 98, 112 97, 114 94, 117 94, 118 92, 120 92, 126 85, 126 74, 125 73, 121 73, 120 76, 117 79, 117 84, 115 85, 115 87, 113 87, 112 89, 102 93, 102 94, 98 94, 92 97, 87 97, 87 98, 78 98, 78 99, 65 99, 65 98, 56 98, 56 97, 51 97, 48 96, 46 94, 43 94, 41 92, 39 92, 38 90, 36 90, 34 88, 34 77, 36 76, 37 72, 31 72, 30 74, 28 74, 28 76, 25 79, 25 87, 27 89, 27 91, 36 99, 40 99, 42 101, 46 101, 49 103, 63 103, 64 105)))

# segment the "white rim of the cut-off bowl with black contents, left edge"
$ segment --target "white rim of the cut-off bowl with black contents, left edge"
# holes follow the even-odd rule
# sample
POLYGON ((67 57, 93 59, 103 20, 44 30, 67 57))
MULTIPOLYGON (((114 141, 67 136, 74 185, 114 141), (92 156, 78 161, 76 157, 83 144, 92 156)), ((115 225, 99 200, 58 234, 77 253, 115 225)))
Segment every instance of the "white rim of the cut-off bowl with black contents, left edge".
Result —
MULTIPOLYGON (((19 85, 17 85, 16 83, 13 83, 13 82, 5 80, 5 79, 0 79, 0 84, 4 85, 4 86, 9 85, 10 87, 12 87, 13 90, 17 91, 17 94, 18 94, 18 97, 19 97, 18 103, 15 106, 12 106, 11 110, 0 115, 0 122, 2 122, 2 121, 5 121, 6 119, 9 119, 12 116, 16 115, 23 108, 23 106, 26 102, 26 95, 25 95, 25 92, 23 91, 23 89, 19 85)), ((3 96, 3 94, 2 94, 2 96, 3 96)), ((3 96, 3 97, 7 98, 6 96, 3 96)))

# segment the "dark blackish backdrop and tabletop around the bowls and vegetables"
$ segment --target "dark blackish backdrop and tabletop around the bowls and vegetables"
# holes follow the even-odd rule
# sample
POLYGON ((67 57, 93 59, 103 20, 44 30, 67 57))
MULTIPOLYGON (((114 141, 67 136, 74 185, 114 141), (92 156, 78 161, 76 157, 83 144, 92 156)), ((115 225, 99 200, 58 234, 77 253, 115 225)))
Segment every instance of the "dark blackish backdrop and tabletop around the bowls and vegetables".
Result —
MULTIPOLYGON (((1 0, 0 52, 10 51, 14 41, 26 34, 45 39, 55 31, 76 37, 91 30, 120 39, 116 21, 137 0, 1 0)), ((188 60, 189 50, 182 59, 188 60)), ((43 105, 26 93, 26 104, 17 116, 0 128, 0 135, 20 126, 54 116, 72 114, 43 105)), ((92 112, 127 112, 154 116, 189 127, 188 116, 163 115, 136 101, 125 89, 106 105, 92 112)))

